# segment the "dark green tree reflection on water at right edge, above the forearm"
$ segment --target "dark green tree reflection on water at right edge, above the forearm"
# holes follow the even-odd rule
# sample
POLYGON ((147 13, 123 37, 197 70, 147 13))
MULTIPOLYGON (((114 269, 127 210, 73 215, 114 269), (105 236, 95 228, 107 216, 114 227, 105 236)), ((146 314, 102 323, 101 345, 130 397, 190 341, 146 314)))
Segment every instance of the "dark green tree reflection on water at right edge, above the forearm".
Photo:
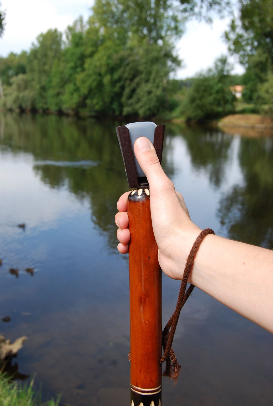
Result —
POLYGON ((221 199, 221 224, 234 240, 273 248, 273 138, 241 138, 238 158, 244 182, 221 199))

